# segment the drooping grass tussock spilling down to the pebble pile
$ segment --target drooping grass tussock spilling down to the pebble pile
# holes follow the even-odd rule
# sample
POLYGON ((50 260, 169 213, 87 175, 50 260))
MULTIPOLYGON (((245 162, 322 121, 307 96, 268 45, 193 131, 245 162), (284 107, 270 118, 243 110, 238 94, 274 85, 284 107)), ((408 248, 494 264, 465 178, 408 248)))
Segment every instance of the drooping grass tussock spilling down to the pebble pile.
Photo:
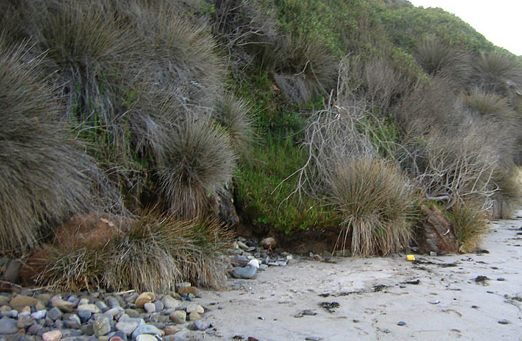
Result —
POLYGON ((104 283, 116 290, 157 292, 173 292, 181 281, 222 287, 225 270, 219 252, 227 237, 216 221, 179 221, 149 212, 115 243, 104 283))

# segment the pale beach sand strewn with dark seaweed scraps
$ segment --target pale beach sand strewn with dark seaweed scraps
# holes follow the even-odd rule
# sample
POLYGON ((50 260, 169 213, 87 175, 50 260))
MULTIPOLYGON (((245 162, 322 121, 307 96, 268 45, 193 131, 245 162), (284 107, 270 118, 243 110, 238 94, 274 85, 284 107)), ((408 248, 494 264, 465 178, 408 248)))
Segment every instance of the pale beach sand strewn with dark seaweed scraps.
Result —
POLYGON ((521 228, 522 219, 493 221, 482 244, 489 253, 415 255, 456 267, 414 264, 405 254, 342 258, 337 264, 304 259, 258 272, 254 280, 230 280, 227 291, 202 292, 198 299, 209 309, 205 320, 216 327, 215 335, 192 335, 260 341, 522 340, 521 228), (477 283, 477 276, 489 279, 477 283), (418 285, 405 284, 417 280, 418 285), (374 292, 378 285, 387 287, 374 292), (319 307, 324 302, 339 307, 330 313, 319 307), (305 309, 317 315, 295 317, 305 309), (401 321, 405 325, 398 325, 401 321))

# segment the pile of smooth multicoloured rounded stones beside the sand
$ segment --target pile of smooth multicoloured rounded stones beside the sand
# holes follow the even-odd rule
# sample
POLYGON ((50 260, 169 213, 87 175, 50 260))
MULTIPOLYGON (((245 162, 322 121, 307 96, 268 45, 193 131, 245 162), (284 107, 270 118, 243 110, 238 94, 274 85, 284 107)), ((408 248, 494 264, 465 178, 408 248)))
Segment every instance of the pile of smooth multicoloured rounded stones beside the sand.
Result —
POLYGON ((197 288, 180 283, 182 294, 104 292, 48 294, 23 290, 0 294, 1 341, 186 340, 182 331, 216 329, 192 302, 197 288))

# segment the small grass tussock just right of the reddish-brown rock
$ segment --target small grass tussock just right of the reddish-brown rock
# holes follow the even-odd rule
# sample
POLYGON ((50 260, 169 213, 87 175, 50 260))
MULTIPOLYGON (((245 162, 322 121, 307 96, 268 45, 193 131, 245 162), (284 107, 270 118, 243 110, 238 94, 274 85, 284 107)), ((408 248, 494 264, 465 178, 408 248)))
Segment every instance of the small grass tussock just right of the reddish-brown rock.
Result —
POLYGON ((473 252, 488 231, 488 221, 481 206, 481 203, 473 201, 457 201, 451 210, 451 221, 459 243, 459 252, 473 252))

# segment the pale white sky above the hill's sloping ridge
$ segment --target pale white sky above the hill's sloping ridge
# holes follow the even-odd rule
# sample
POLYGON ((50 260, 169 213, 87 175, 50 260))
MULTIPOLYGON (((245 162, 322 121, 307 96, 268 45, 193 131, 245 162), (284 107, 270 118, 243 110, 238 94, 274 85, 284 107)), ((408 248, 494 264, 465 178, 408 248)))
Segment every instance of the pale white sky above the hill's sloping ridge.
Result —
POLYGON ((440 7, 466 21, 493 44, 522 56, 522 0, 409 0, 440 7))

